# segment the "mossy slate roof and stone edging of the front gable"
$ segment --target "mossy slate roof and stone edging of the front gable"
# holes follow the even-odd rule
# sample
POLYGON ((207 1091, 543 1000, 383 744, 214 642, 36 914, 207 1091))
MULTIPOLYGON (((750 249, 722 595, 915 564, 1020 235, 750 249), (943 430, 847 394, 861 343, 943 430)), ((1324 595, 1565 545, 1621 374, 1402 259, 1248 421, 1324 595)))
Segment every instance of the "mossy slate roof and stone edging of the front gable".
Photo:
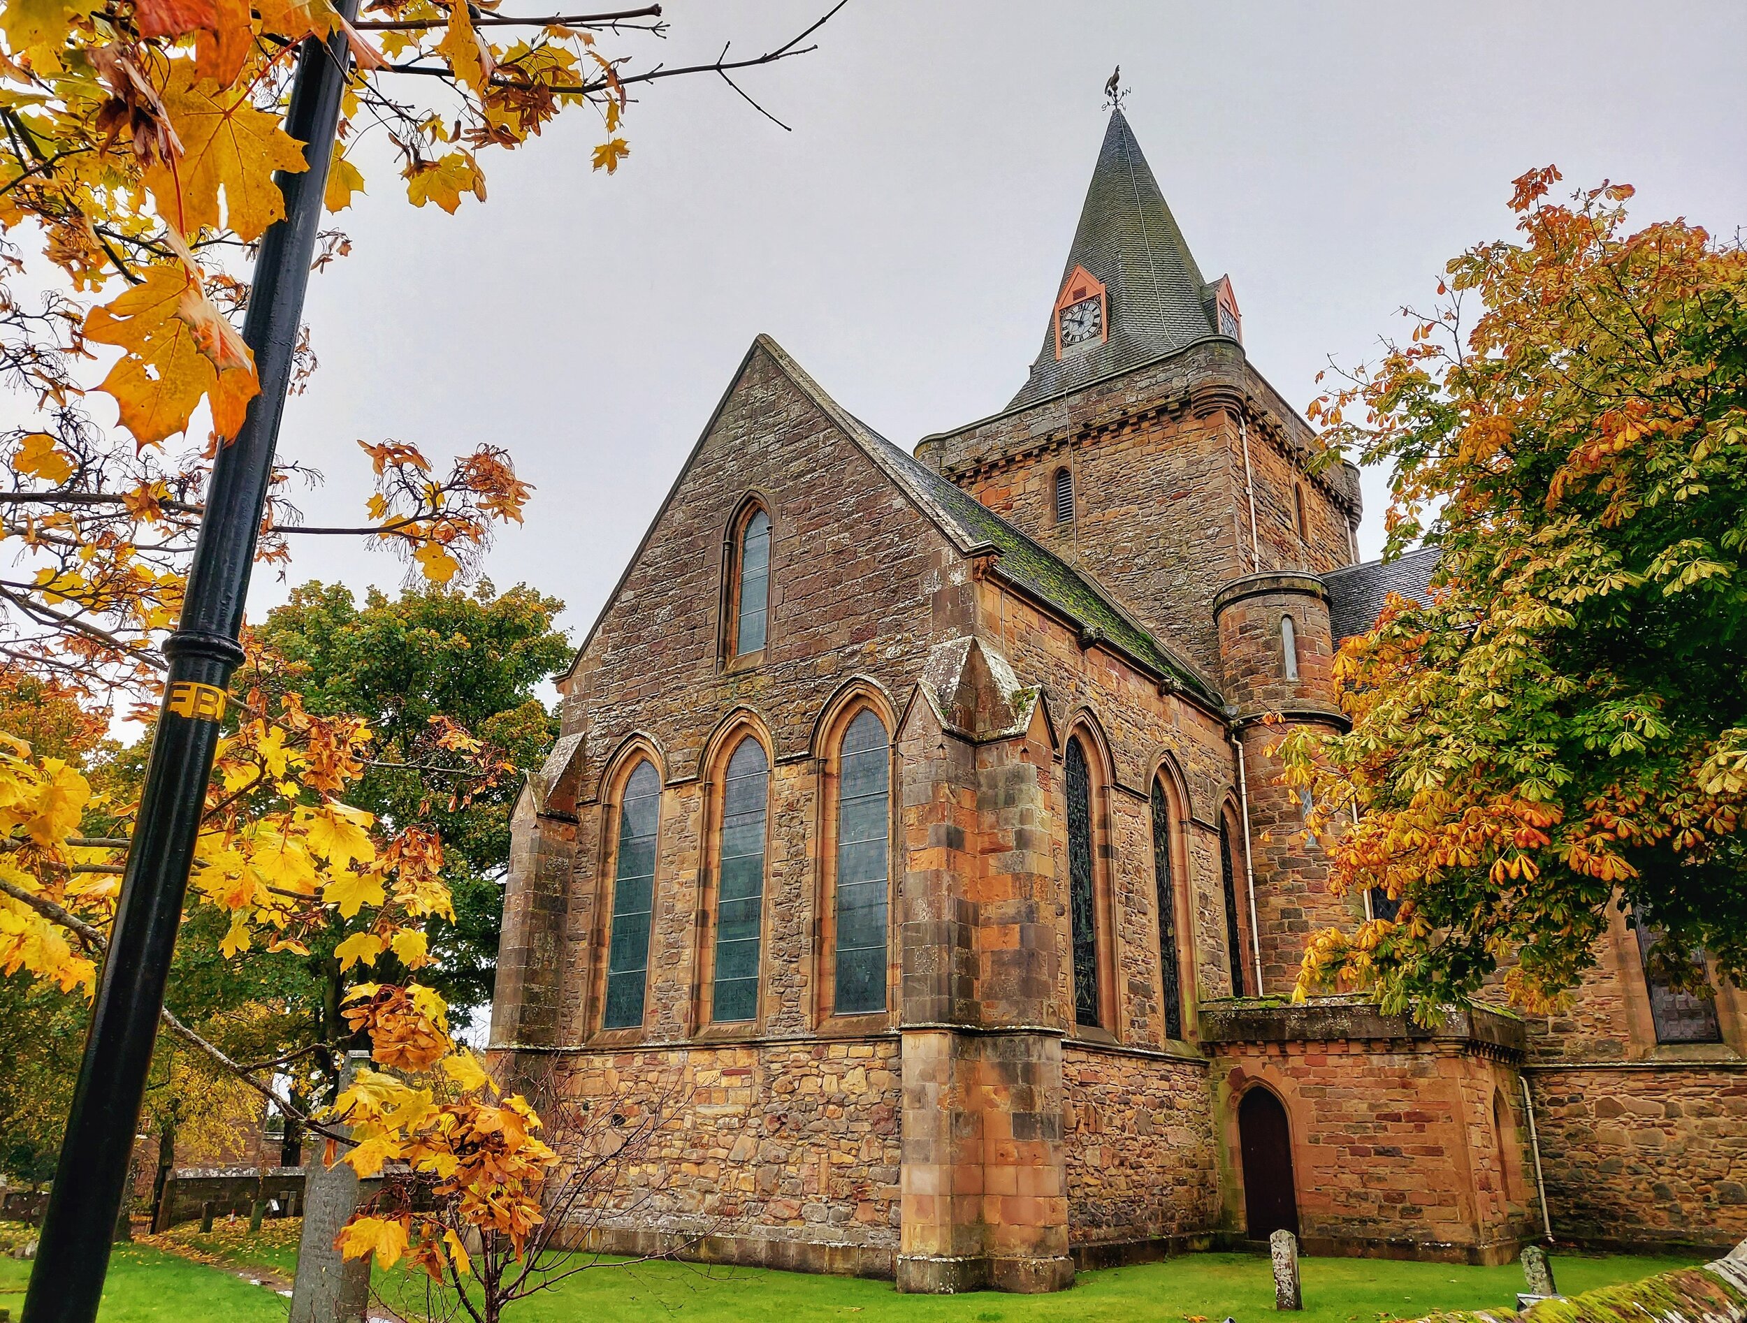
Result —
MULTIPOLYGON (((1060 614, 1067 616, 1081 634, 1106 641, 1109 646, 1137 662, 1144 670, 1150 670, 1155 675, 1170 677, 1202 700, 1218 703, 1218 695, 1212 686, 1209 686, 1193 667, 1137 625, 1127 611, 1101 592, 1090 579, 1081 576, 1073 566, 1041 548, 975 497, 961 492, 938 473, 917 463, 905 450, 868 428, 861 422, 861 419, 832 400, 832 396, 828 396, 819 384, 809 377, 793 358, 788 356, 783 346, 762 333, 753 339, 751 347, 746 351, 746 358, 741 360, 739 368, 734 372, 734 379, 728 382, 728 389, 716 403, 715 412, 711 412, 709 422, 704 424, 704 431, 699 435, 697 445, 692 447, 685 464, 680 466, 680 473, 674 476, 673 487, 667 489, 667 496, 662 497, 660 508, 655 511, 655 518, 650 520, 650 527, 643 534, 643 541, 638 543, 638 550, 631 555, 631 560, 625 562, 625 569, 618 576, 618 583, 613 585, 613 592, 608 593, 606 602, 601 606, 601 613, 594 618, 594 623, 589 627, 589 634, 577 649, 577 658, 580 658, 594 641, 608 609, 611 609, 611 604, 624 590, 625 579, 631 576, 631 569, 643 557, 643 550, 648 546, 650 538, 655 536, 655 529, 660 524, 662 515, 666 515, 667 506, 673 504, 673 499, 680 490, 680 483, 685 482, 687 471, 697 459, 697 452, 709 438, 709 433, 716 426, 716 419, 734 396, 735 386, 739 386, 741 377, 746 375, 748 365, 758 353, 767 354, 777 370, 788 377, 790 382, 793 382, 793 386, 807 396, 807 400, 811 400, 821 414, 825 414, 837 431, 860 449, 874 463, 874 466, 910 499, 924 518, 945 534, 947 541, 950 541, 961 555, 994 553, 998 557, 996 574, 1008 579, 1022 593, 1045 606, 1055 607, 1060 614)), ((570 670, 575 668, 577 660, 571 660, 570 670)))

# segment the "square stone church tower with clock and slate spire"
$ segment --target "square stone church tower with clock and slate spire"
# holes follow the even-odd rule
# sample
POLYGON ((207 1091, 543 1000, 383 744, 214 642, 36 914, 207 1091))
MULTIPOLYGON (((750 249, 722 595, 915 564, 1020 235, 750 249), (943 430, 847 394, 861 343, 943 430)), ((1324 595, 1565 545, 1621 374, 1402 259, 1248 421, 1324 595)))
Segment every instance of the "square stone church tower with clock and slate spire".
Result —
POLYGON ((1244 351, 1237 291, 1207 279, 1115 108, 1024 386, 915 456, 1085 571, 1223 682, 1214 595, 1354 560, 1357 470, 1244 351))

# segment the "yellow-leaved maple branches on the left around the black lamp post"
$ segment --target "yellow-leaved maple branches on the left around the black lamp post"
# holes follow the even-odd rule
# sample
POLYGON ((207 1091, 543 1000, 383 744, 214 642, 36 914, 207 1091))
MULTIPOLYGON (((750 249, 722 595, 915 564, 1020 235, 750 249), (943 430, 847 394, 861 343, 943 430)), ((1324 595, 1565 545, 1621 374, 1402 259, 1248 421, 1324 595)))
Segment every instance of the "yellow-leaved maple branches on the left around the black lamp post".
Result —
MULTIPOLYGON (((159 684, 157 641, 182 611, 215 457, 260 393, 255 351, 234 319, 252 297, 250 248, 285 216, 274 173, 307 169, 304 145, 285 129, 297 52, 334 59, 346 79, 341 145, 323 180, 328 209, 356 202, 367 183, 356 148, 377 134, 407 199, 454 211, 486 199, 493 152, 540 136, 559 112, 597 119, 592 164, 613 173, 639 87, 687 73, 732 86, 734 70, 811 47, 800 33, 744 59, 723 51, 699 66, 636 68, 603 42, 662 37, 659 5, 517 14, 489 0, 374 0, 365 17, 353 14, 353 0, 0 9, 0 380, 24 408, 0 431, 0 541, 12 553, 12 569, 0 571, 0 662, 66 686, 91 710, 150 719, 161 703, 183 703, 187 721, 225 723, 199 819, 194 913, 215 918, 220 955, 245 963, 259 951, 307 955, 334 913, 358 922, 351 949, 391 953, 409 977, 355 990, 348 1028, 398 1072, 397 1087, 445 1082, 432 1105, 376 1117, 344 1154, 374 1175, 409 1145, 451 1143, 463 1119, 498 1107, 486 1101, 479 1061, 454 1044, 442 997, 419 981, 433 965, 432 922, 454 918, 440 829, 430 815, 383 822, 349 801, 379 761, 377 733, 365 716, 314 710, 271 682, 271 648, 248 644, 229 702, 197 686, 166 696, 159 684)), ((346 246, 328 234, 316 265, 346 246)), ((465 335, 454 328, 454 346, 465 335)), ((307 342, 293 368, 313 368, 307 342)), ((260 559, 285 560, 297 536, 351 532, 444 585, 475 571, 493 532, 521 520, 529 489, 500 447, 433 464, 398 440, 362 445, 374 492, 342 529, 302 524, 290 503, 297 461, 278 461, 260 559)), ((475 759, 480 784, 501 770, 459 721, 428 726, 445 756, 475 759)), ((0 730, 0 969, 65 993, 93 988, 133 813, 75 763, 0 730)), ((271 1063, 246 1070, 173 1012, 164 1023, 273 1096, 271 1063)), ((390 1077, 362 1075, 346 1108, 386 1087, 372 1079, 390 1077)), ((508 1154, 521 1175, 487 1166, 479 1208, 512 1225, 535 1215, 540 1171, 554 1159, 533 1138, 538 1119, 526 1105, 503 1107, 524 1119, 508 1154)))

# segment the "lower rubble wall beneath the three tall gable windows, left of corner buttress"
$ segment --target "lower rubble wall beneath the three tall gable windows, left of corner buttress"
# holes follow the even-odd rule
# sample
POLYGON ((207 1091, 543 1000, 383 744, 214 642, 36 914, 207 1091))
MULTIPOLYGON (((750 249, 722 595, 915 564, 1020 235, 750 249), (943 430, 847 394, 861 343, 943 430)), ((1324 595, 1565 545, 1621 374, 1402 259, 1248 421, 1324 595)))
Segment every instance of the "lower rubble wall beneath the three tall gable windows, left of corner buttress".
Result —
MULTIPOLYGON (((563 1054, 563 1087, 666 1121, 578 1225, 622 1253, 891 1276, 898 1039, 688 1044, 563 1054)), ((549 1136, 550 1141, 550 1136, 549 1136)))

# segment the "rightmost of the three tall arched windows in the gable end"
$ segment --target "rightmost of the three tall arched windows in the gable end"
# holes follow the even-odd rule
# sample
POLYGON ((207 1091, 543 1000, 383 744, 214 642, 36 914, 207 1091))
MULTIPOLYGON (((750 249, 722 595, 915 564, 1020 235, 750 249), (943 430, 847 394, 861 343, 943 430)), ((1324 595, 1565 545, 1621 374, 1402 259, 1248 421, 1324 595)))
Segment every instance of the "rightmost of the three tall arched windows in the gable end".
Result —
POLYGON ((837 770, 837 1014, 886 1009, 886 906, 891 871, 891 756, 886 726, 863 710, 844 733, 837 770))

